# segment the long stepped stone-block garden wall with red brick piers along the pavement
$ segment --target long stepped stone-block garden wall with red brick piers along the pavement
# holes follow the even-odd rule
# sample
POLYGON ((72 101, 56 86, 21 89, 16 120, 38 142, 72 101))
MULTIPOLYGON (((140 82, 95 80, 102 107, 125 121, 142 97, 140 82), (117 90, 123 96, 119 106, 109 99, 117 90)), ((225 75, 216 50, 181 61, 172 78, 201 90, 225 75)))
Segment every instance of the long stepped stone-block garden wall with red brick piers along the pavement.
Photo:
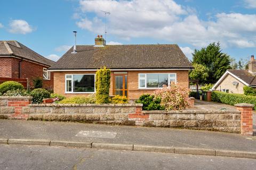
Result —
POLYGON ((233 111, 142 111, 142 104, 30 104, 31 97, 0 97, 0 118, 200 129, 252 135, 252 107, 233 111))

